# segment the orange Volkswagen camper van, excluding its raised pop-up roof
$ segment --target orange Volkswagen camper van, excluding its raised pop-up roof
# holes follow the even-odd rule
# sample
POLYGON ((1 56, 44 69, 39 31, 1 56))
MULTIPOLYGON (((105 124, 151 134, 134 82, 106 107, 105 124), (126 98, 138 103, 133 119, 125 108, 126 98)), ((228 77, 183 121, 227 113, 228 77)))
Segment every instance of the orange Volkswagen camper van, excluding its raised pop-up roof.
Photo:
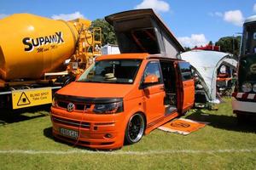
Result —
POLYGON ((188 62, 150 54, 105 55, 55 94, 53 134, 91 148, 120 148, 188 111, 194 96, 188 62))

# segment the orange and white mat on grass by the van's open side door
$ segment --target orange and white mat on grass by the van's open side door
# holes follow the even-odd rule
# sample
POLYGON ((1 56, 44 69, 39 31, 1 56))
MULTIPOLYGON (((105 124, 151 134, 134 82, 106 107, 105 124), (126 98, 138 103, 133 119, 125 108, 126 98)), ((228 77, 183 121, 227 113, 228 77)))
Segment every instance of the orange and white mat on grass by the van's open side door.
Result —
POLYGON ((172 122, 166 122, 166 124, 158 127, 160 130, 187 135, 205 127, 208 122, 196 122, 189 119, 179 118, 172 122))

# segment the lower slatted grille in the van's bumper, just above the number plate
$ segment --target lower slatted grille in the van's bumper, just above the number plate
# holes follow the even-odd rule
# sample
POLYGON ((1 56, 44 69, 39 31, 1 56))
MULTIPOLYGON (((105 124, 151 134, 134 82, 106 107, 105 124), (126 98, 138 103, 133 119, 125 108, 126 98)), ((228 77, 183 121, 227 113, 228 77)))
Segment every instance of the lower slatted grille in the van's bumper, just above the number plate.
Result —
POLYGON ((61 123, 61 124, 72 126, 72 127, 90 128, 90 122, 73 121, 73 120, 63 119, 56 116, 53 116, 52 120, 53 122, 61 123))

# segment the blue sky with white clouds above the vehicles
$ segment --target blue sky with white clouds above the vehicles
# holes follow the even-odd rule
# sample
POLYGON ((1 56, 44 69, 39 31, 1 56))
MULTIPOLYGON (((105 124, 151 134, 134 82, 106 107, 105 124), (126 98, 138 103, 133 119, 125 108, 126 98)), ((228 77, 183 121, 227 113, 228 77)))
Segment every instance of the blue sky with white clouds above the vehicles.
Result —
POLYGON ((256 14, 256 0, 0 0, 0 18, 29 13, 96 20, 136 8, 153 8, 184 47, 195 47, 239 36, 243 21, 256 14))

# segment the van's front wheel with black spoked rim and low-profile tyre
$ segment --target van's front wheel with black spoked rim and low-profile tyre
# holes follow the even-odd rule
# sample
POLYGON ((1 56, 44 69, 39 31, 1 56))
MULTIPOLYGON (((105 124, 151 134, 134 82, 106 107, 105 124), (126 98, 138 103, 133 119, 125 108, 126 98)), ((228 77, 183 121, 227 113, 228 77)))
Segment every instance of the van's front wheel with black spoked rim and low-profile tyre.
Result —
POLYGON ((125 129, 125 144, 135 144, 143 138, 145 120, 141 113, 131 116, 125 129))

